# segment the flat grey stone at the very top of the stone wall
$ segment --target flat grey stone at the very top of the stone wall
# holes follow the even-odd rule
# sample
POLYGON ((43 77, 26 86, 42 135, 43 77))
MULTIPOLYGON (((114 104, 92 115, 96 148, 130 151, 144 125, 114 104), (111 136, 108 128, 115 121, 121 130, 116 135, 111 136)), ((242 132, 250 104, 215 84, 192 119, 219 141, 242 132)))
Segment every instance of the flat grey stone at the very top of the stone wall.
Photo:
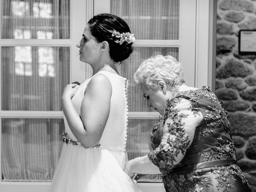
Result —
POLYGON ((224 0, 219 3, 222 10, 242 10, 253 12, 254 5, 248 0, 224 0))

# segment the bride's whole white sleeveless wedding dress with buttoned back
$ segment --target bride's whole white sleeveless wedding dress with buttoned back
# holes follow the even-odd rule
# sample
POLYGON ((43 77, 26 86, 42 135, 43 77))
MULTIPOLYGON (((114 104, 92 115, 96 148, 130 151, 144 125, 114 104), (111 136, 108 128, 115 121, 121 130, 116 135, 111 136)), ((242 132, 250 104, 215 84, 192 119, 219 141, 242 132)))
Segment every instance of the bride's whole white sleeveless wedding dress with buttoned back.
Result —
MULTIPOLYGON (((112 85, 110 114, 100 142, 84 148, 72 134, 64 117, 64 145, 49 192, 141 192, 133 180, 123 172, 128 160, 127 88, 126 78, 100 71, 112 85)), ((96 74, 95 74, 96 75, 96 74)), ((80 106, 89 78, 78 88, 72 104, 80 115, 80 106)))

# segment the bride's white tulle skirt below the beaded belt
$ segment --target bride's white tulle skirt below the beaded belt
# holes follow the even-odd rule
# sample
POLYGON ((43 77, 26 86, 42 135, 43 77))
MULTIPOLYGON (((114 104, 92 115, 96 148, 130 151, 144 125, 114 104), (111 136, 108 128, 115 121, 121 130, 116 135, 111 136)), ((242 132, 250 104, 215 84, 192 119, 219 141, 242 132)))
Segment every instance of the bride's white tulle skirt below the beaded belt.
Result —
POLYGON ((126 161, 126 152, 64 144, 49 192, 142 192, 126 161))

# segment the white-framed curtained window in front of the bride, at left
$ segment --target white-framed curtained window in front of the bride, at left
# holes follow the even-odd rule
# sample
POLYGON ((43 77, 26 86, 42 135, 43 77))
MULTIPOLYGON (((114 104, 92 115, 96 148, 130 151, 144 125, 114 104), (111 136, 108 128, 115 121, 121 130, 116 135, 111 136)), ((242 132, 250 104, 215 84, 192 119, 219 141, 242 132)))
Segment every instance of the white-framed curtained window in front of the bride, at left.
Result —
POLYGON ((84 0, 0 0, 1 191, 47 191, 63 145, 63 88, 85 79, 76 48, 85 8, 84 0))

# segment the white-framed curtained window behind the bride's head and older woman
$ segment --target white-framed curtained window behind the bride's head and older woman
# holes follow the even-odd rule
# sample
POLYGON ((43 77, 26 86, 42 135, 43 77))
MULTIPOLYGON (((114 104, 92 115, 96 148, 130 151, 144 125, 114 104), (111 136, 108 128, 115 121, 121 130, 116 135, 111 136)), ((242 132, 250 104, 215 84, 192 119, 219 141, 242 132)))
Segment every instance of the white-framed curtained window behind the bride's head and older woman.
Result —
MULTIPOLYGON (((130 79, 128 158, 144 156, 152 150, 150 132, 152 126, 158 123, 160 114, 148 108, 142 91, 134 85, 133 74, 140 63, 148 57, 168 54, 182 63, 184 61, 186 81, 194 86, 195 63, 191 52, 195 52, 196 2, 182 0, 108 0, 103 2, 96 0, 94 12, 96 14, 110 12, 120 16, 128 23, 136 38, 132 55, 117 69, 121 76, 130 79), (104 10, 102 4, 104 4, 104 10), (186 12, 186 15, 181 16, 182 12, 186 12), (187 38, 190 38, 189 42, 187 38), (192 60, 188 61, 186 57, 192 60)), ((162 182, 162 179, 160 175, 146 175, 138 182, 162 182)), ((146 191, 148 190, 147 188, 146 191)))

